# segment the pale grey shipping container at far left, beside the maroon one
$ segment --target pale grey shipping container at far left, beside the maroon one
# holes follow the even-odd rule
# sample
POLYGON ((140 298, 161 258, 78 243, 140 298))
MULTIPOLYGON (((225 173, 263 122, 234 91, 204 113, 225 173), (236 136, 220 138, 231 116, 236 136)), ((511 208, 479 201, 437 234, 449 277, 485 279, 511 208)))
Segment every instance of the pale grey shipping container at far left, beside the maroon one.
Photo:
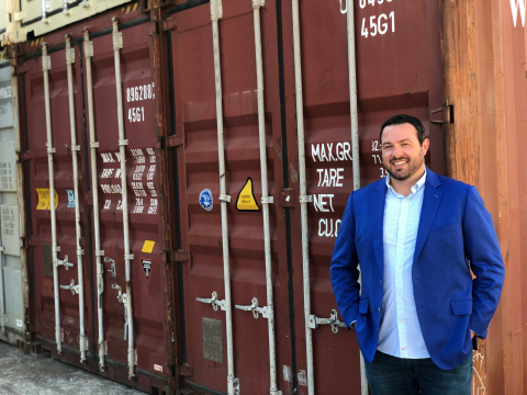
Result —
POLYGON ((4 55, 0 52, 0 340, 29 352, 23 178, 16 154, 20 151, 16 77, 12 76, 11 61, 4 55))

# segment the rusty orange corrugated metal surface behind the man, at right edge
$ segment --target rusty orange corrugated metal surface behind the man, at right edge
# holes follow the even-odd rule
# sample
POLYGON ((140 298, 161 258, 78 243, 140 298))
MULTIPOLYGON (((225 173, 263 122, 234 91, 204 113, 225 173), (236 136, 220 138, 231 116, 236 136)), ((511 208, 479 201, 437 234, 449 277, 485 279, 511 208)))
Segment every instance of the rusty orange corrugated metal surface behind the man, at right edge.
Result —
POLYGON ((479 188, 506 268, 487 340, 474 354, 472 394, 525 394, 525 8, 515 1, 441 5, 446 100, 461 110, 447 129, 449 172, 479 188))

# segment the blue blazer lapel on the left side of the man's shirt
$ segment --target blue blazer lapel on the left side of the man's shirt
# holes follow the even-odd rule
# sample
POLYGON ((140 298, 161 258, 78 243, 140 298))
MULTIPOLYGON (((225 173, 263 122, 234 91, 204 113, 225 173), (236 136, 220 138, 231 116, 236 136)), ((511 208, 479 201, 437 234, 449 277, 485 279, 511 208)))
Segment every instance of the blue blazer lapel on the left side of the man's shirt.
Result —
MULTIPOLYGON (((379 181, 378 181, 379 182, 379 181)), ((370 195, 370 227, 373 238, 373 250, 375 253, 377 266, 381 278, 384 275, 384 203, 386 201, 386 182, 384 179, 375 185, 375 191, 370 195)))

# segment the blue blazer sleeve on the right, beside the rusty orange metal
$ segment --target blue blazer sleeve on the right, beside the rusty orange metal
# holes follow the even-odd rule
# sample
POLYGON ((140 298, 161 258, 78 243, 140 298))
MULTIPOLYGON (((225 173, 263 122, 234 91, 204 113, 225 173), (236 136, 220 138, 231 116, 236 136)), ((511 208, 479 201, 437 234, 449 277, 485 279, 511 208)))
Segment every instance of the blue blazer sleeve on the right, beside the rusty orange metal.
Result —
POLYGON ((470 329, 485 338, 492 316, 497 308, 505 279, 505 266, 491 214, 475 187, 467 194, 463 241, 472 281, 472 314, 470 329))

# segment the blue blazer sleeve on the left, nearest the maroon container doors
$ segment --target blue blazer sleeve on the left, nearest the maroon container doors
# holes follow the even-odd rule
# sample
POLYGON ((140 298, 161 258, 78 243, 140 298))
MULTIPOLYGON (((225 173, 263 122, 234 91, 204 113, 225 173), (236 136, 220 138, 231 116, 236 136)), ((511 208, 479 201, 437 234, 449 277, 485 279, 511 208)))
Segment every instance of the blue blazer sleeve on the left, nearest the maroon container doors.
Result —
POLYGON ((349 195, 344 211, 337 240, 333 250, 329 269, 333 291, 337 306, 346 327, 357 319, 359 314, 359 270, 355 245, 354 192, 349 195))

